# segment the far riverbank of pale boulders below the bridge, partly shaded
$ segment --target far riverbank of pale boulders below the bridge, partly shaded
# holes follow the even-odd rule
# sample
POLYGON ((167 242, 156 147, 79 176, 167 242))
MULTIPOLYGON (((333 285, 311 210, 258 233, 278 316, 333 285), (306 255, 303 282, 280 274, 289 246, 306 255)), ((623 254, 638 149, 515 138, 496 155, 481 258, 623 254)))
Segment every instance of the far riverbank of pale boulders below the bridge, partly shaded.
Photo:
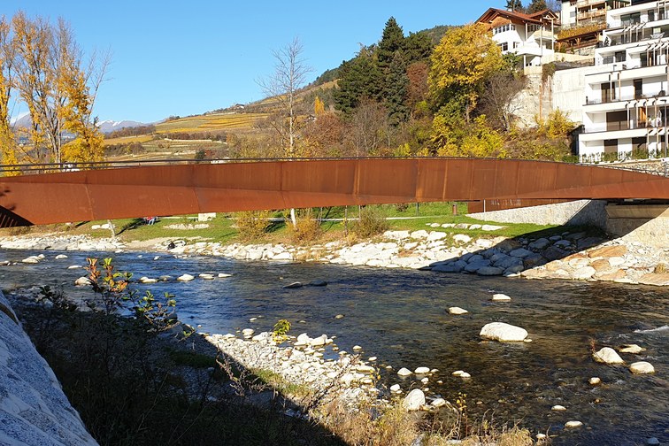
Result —
POLYGON ((669 248, 628 241, 625 237, 611 239, 596 230, 570 230, 569 227, 515 238, 496 236, 496 231, 502 228, 466 223, 428 223, 423 230, 386 231, 368 241, 334 241, 308 246, 223 244, 166 237, 120 242, 114 238, 94 239, 86 235, 15 235, 0 237, 0 248, 111 252, 149 250, 174 256, 323 262, 411 268, 434 273, 669 285, 669 248), (443 230, 446 228, 449 232, 443 230), (458 229, 465 231, 459 234, 458 229), (465 234, 468 231, 483 231, 485 236, 465 234))

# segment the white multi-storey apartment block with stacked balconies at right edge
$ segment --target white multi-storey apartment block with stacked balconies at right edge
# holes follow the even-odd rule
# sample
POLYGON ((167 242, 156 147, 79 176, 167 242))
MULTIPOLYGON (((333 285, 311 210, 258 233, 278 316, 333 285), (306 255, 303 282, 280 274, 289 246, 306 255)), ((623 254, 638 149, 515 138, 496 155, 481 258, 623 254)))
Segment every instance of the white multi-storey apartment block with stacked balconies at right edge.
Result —
MULTIPOLYGON (((633 2, 636 3, 636 2, 633 2)), ((649 155, 669 146, 669 0, 607 12, 598 73, 585 75, 582 162, 649 155)))

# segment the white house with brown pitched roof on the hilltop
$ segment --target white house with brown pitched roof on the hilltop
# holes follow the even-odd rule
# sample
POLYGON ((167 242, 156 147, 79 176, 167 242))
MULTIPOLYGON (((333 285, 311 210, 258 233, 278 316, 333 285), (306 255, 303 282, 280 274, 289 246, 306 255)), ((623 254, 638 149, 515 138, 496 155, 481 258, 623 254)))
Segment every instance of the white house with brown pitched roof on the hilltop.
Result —
POLYGON ((524 66, 542 65, 542 58, 555 53, 555 27, 559 21, 549 10, 523 14, 489 8, 476 22, 487 24, 502 53, 519 55, 524 66))

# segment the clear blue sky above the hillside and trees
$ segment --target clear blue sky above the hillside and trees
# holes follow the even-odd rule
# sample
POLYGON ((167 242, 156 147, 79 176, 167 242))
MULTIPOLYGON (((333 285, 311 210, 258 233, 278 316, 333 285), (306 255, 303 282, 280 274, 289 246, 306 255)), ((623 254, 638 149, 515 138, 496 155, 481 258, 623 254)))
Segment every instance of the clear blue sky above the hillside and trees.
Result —
MULTIPOLYGON (((84 50, 111 49, 96 101, 101 120, 154 122, 262 98, 272 50, 298 37, 315 77, 378 42, 389 17, 404 33, 461 25, 504 0, 280 2, 0 0, 0 15, 23 10, 68 21, 84 50)), ((312 79, 310 79, 311 81, 312 79)), ((14 105, 14 114, 21 107, 14 105)))

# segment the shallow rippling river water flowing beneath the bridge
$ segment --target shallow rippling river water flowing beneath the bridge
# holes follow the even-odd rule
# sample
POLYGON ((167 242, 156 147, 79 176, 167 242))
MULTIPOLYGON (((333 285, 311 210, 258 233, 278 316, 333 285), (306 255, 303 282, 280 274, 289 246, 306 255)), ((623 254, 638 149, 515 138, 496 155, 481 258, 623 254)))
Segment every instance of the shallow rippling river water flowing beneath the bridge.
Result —
MULTIPOLYGON (((76 296, 73 281, 90 255, 45 252, 39 265, 0 268, 4 289, 38 284, 62 285, 76 296)), ((32 251, 0 251, 1 260, 19 261, 32 251)), ((104 257, 97 253, 97 257, 104 257)), ((470 418, 484 414, 497 421, 517 421, 534 434, 555 435, 553 444, 643 444, 657 437, 669 443, 669 291, 639 285, 575 281, 527 281, 320 264, 250 263, 225 258, 173 258, 151 253, 109 255, 121 271, 158 278, 182 273, 231 273, 232 277, 188 283, 135 284, 154 294, 176 296, 179 318, 200 331, 225 334, 252 327, 271 330, 288 319, 291 334, 335 335, 336 344, 362 357, 375 356, 394 370, 425 365, 439 369, 427 384, 430 393, 454 401, 466 394, 470 418), (284 289, 292 282, 327 281, 327 287, 284 289), (511 296, 492 303, 493 293, 511 296), (452 316, 446 309, 470 311, 452 316), (337 314, 344 315, 335 319, 337 314), (250 322, 250 318, 259 318, 250 322), (530 343, 481 342, 488 322, 524 327, 530 343), (604 346, 636 343, 640 355, 621 354, 627 363, 646 360, 652 375, 633 375, 627 367, 596 364, 591 358, 604 346), (465 370, 472 378, 450 375, 465 370), (590 377, 602 379, 599 386, 590 377), (438 385, 436 380, 442 380, 438 385), (566 411, 551 411, 560 404, 566 411), (568 420, 584 427, 565 429, 568 420)), ((336 353, 330 352, 330 355, 336 353)), ((403 389, 418 381, 383 374, 388 387, 403 389)))

